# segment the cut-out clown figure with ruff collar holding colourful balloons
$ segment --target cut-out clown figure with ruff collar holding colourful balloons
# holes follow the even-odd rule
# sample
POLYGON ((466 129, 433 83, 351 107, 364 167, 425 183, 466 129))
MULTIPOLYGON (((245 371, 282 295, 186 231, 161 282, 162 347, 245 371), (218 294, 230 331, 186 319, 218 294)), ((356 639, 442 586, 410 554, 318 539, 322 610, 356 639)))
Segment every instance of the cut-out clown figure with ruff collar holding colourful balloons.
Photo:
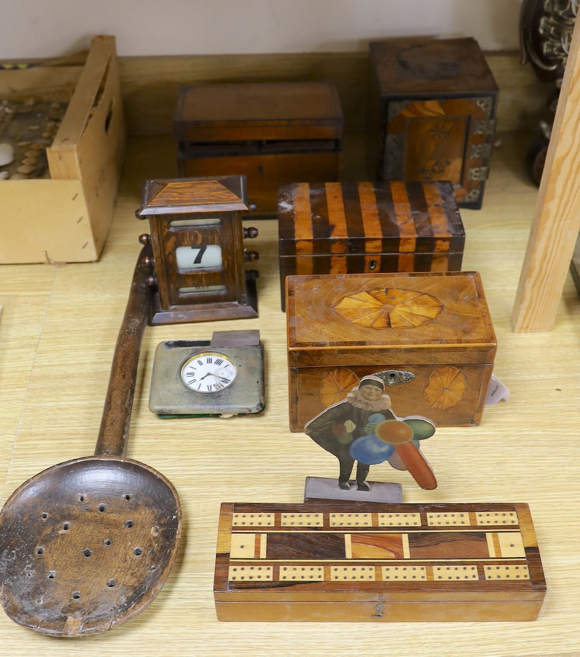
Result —
POLYGON ((358 490, 370 490, 366 482, 369 468, 384 461, 398 470, 408 470, 422 488, 437 487, 435 474, 419 449, 419 441, 433 436, 435 425, 418 416, 398 418, 378 376, 363 376, 346 399, 310 420, 304 433, 337 457, 338 485, 344 490, 350 488, 354 461, 358 490))

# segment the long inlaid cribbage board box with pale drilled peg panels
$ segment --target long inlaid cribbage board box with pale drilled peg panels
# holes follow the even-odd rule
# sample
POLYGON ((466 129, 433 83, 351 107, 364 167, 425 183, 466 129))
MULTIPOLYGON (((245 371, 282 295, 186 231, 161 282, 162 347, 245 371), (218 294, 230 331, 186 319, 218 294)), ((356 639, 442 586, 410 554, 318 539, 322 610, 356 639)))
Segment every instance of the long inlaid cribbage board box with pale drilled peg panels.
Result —
POLYGON ((218 620, 524 621, 546 582, 526 504, 222 504, 218 620))

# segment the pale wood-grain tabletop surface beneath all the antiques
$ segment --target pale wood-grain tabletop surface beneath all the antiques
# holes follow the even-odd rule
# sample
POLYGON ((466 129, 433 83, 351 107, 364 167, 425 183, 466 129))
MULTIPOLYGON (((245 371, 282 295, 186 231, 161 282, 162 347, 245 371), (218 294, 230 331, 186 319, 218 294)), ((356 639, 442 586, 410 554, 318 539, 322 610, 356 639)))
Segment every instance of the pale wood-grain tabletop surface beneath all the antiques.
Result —
MULTIPOLYGON (((509 501, 531 506, 548 581, 534 623, 431 625, 218 623, 212 578, 222 501, 297 502, 306 475, 336 476, 337 463, 287 419, 285 315, 279 310, 276 223, 260 222, 260 317, 147 328, 133 407, 130 456, 157 468, 180 493, 184 535, 157 600, 126 625, 89 639, 57 640, 0 612, 0 654, 157 656, 561 655, 580 648, 580 301, 568 281, 554 331, 510 331, 536 190, 523 173, 523 142, 504 136, 484 209, 462 212, 464 269, 481 272, 498 337, 496 374, 509 403, 477 428, 442 428, 425 445, 439 487, 422 491, 408 474, 374 466, 404 484, 404 501, 509 501), (205 339, 212 330, 260 328, 266 348, 267 408, 229 420, 158 420, 147 409, 155 346, 205 339), (82 641, 82 643, 79 643, 82 641)), ((0 491, 92 453, 116 334, 145 224, 134 218, 141 182, 174 174, 166 138, 130 143, 122 193, 98 263, 0 267, 0 491)), ((577 654, 577 653, 575 653, 577 654)))

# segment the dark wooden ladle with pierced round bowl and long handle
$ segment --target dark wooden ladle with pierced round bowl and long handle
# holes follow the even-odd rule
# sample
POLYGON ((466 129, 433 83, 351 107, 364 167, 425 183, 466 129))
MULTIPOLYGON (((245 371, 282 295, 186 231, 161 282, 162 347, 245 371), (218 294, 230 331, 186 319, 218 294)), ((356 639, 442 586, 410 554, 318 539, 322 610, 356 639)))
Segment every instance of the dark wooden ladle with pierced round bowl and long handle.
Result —
POLYGON ((174 562, 181 509, 157 470, 125 457, 152 291, 143 248, 114 351, 95 455, 24 482, 0 512, 0 602, 55 637, 103 632, 143 610, 174 562))

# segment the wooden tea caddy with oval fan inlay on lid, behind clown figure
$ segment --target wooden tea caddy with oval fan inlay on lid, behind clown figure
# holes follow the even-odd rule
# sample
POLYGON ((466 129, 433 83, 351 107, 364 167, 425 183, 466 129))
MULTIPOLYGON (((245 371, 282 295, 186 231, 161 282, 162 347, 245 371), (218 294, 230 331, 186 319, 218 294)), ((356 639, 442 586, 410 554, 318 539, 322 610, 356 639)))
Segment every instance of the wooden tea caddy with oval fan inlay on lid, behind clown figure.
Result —
POLYGON ((476 272, 289 276, 290 430, 385 381, 399 417, 479 424, 496 338, 476 272))

